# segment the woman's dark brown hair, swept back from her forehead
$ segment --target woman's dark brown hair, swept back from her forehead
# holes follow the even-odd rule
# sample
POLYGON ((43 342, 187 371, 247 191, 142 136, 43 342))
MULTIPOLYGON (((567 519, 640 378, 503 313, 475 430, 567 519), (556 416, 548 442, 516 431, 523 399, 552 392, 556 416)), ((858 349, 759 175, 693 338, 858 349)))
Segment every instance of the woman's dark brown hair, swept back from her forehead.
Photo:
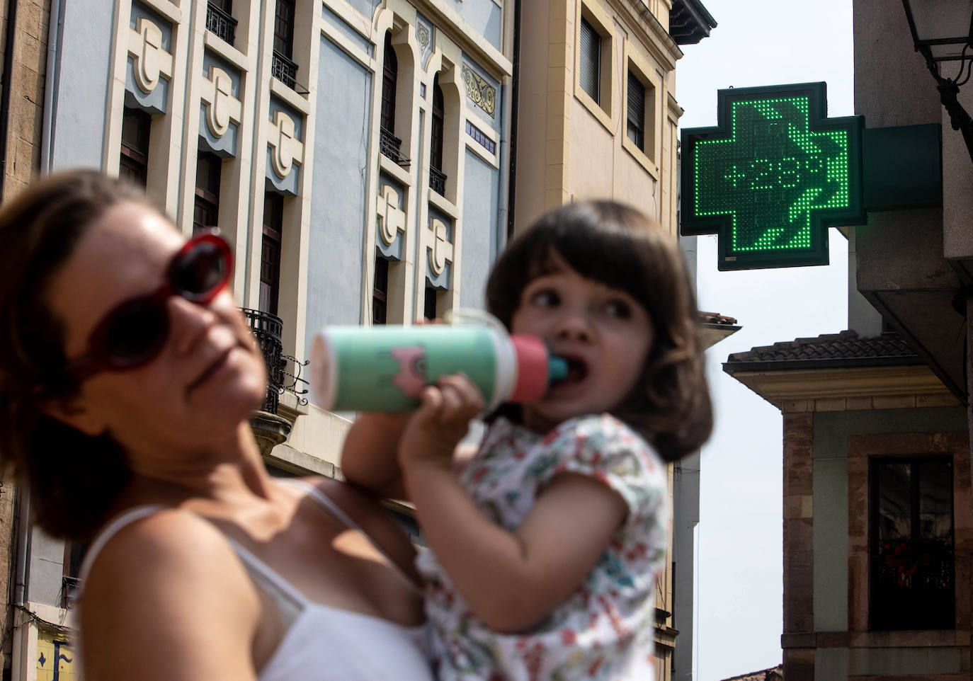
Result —
POLYGON ((110 436, 84 435, 44 409, 78 389, 60 371, 64 329, 47 301, 52 278, 90 225, 129 200, 147 203, 122 181, 72 170, 0 206, 0 461, 28 485, 35 522, 54 536, 90 536, 131 478, 110 436))

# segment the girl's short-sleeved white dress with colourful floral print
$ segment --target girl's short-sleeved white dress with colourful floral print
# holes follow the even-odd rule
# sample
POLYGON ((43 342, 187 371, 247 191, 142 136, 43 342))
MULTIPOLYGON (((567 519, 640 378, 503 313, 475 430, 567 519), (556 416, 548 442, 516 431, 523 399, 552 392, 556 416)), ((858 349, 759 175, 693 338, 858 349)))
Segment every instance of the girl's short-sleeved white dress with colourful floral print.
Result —
POLYGON ((460 480, 487 518, 513 532, 562 473, 607 484, 629 514, 584 583, 535 627, 489 630, 436 556, 419 555, 440 681, 655 678, 656 576, 669 520, 667 467, 655 450, 610 414, 571 418, 543 436, 500 417, 460 480))

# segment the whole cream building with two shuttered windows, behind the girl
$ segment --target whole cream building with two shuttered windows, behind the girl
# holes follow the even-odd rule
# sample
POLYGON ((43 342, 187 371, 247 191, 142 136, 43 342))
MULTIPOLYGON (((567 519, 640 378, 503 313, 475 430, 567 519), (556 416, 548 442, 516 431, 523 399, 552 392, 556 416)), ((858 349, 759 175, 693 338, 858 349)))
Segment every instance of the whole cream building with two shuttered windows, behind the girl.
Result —
MULTIPOLYGON (((519 18, 512 232, 573 200, 614 198, 676 238, 675 65, 680 46, 699 43, 715 20, 695 0, 532 0, 519 18)), ((739 328, 703 325, 708 344, 739 328)), ((674 513, 656 599, 660 681, 693 678, 699 482, 698 454, 669 466, 674 513)))

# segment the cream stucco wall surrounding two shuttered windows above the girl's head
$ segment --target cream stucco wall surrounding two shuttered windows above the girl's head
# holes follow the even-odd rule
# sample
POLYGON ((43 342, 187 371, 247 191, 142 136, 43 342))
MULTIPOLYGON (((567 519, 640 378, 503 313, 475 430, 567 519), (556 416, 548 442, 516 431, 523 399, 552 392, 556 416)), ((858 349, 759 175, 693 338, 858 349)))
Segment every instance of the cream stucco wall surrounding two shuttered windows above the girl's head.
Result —
POLYGON ((649 4, 656 19, 628 0, 532 2, 521 21, 515 229, 578 198, 631 203, 676 233, 675 60, 660 35, 670 4, 649 4), (575 45, 584 16, 602 35, 601 97, 578 85, 575 45), (644 151, 628 138, 628 74, 646 86, 644 151))

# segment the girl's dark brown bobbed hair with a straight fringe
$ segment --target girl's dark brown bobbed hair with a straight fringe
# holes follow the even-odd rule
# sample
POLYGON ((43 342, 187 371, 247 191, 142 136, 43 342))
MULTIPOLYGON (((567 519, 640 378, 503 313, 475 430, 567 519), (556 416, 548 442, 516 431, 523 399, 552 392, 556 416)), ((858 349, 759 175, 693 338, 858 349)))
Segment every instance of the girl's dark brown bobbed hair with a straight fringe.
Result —
POLYGON ((649 314, 655 339, 631 394, 614 410, 667 461, 703 446, 712 407, 693 287, 675 238, 627 205, 579 201, 515 237, 486 282, 486 307, 507 329, 523 289, 562 269, 629 294, 649 314))

